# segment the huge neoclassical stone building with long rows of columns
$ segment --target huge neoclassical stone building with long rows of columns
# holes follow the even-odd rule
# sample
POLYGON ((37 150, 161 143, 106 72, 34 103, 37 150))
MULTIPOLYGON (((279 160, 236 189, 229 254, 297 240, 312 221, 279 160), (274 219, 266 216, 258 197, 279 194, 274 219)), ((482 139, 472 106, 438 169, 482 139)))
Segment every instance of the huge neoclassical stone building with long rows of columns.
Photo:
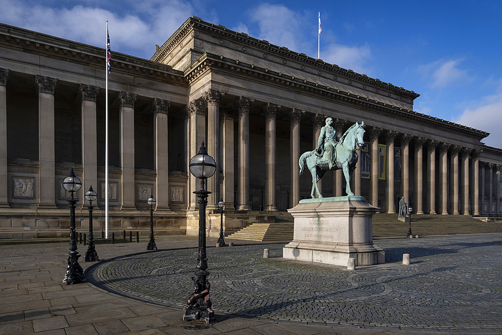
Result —
MULTIPOLYGON (((90 185, 104 212, 104 57, 102 48, 0 25, 3 237, 68 227, 61 181, 71 167, 83 182, 80 225, 90 185)), ((202 141, 219 163, 209 209, 220 198, 238 210, 256 210, 262 198, 271 210, 295 206, 311 188, 298 159, 327 117, 339 135, 364 121, 352 189, 382 211, 395 212, 404 196, 417 214, 499 213, 502 150, 482 143, 484 131, 414 111, 414 91, 196 17, 150 60, 112 52, 111 68, 111 229, 147 227, 153 194, 158 230, 195 233, 198 182, 187 167, 202 141)), ((343 182, 326 173, 321 192, 342 195, 343 182)))

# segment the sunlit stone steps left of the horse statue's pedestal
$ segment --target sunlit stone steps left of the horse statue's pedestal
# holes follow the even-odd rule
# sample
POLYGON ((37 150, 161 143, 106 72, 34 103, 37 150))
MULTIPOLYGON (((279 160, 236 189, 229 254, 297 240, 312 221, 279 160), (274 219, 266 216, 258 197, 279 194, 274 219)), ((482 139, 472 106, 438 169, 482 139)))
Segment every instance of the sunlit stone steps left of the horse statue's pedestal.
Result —
POLYGON ((293 216, 288 212, 278 212, 272 224, 252 224, 228 235, 228 239, 248 241, 292 241, 294 233, 293 216))

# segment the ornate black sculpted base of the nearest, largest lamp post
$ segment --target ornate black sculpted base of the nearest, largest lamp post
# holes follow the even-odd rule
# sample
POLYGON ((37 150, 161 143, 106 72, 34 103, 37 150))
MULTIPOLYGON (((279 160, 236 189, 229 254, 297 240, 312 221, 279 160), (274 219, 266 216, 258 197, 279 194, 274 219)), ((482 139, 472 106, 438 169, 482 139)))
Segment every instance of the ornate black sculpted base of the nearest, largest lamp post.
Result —
POLYGON ((183 308, 185 310, 183 321, 204 320, 206 323, 216 321, 209 299, 211 285, 207 281, 208 275, 207 271, 196 271, 195 276, 191 277, 195 284, 195 290, 188 299, 187 306, 183 308))

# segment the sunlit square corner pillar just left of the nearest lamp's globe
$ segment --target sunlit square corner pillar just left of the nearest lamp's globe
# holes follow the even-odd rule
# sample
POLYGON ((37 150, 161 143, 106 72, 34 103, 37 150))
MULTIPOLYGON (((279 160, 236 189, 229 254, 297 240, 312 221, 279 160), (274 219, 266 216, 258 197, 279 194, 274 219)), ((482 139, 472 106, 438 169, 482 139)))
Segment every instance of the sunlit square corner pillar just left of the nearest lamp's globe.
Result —
MULTIPOLYGON (((193 156, 197 155, 199 152, 200 146, 202 142, 206 141, 206 110, 201 101, 191 101, 188 103, 186 107, 187 117, 190 119, 188 125, 190 127, 190 152, 188 154, 188 164, 193 156)), ((188 170, 188 179, 189 179, 189 189, 187 194, 187 198, 190 199, 189 210, 195 210, 199 207, 197 203, 197 198, 194 191, 200 189, 200 181, 195 178, 188 170)), ((207 184, 206 184, 207 185, 207 184)))

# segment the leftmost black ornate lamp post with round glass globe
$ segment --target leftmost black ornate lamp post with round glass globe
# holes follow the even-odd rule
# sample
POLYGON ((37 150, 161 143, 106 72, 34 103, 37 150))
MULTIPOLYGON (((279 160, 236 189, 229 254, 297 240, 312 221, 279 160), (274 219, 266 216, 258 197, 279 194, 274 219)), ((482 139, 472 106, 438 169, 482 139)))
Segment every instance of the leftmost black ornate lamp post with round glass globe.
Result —
POLYGON ((75 232, 75 203, 77 203, 77 200, 73 197, 73 192, 77 192, 82 187, 82 182, 75 176, 73 168, 71 168, 70 175, 64 178, 63 187, 71 193, 71 199, 68 200, 70 204, 70 251, 68 252, 68 268, 66 269, 63 283, 71 285, 85 281, 84 270, 78 264, 80 255, 77 252, 77 236, 75 232))

